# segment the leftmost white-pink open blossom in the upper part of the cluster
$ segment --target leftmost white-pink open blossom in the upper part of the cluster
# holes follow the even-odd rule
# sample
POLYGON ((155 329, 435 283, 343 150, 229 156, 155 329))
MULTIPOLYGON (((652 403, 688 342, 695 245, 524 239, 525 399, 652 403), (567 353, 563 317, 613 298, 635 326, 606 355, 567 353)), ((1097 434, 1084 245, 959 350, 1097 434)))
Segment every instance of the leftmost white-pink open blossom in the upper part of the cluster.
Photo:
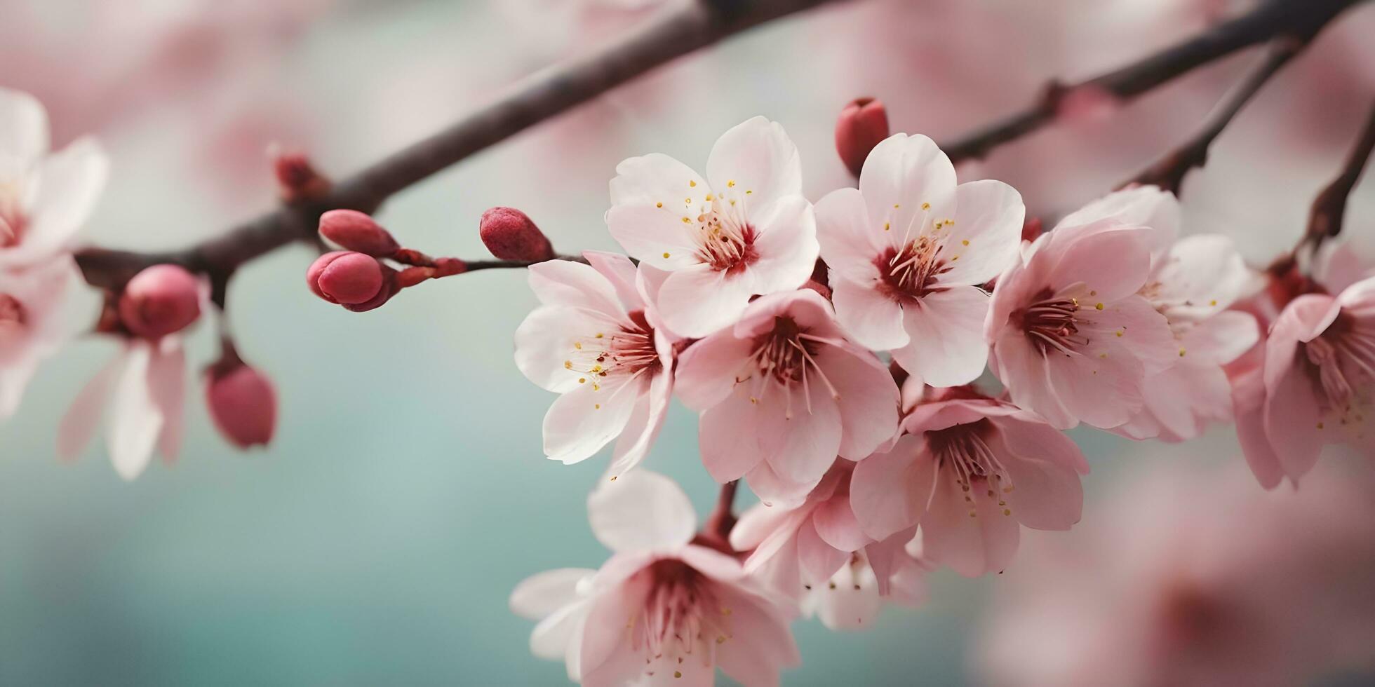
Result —
POLYGON ((584 254, 590 265, 529 267, 540 306, 516 330, 521 372, 562 396, 544 415, 544 453, 578 463, 617 436, 609 474, 635 467, 663 426, 674 381, 674 339, 659 322, 650 267, 584 254))

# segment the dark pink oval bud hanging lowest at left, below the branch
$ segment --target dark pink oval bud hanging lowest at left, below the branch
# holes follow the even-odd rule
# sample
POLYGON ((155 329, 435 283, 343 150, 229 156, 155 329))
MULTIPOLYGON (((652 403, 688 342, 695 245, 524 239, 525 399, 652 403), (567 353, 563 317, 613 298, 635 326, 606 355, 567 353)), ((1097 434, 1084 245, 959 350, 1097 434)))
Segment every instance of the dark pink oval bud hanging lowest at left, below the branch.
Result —
POLYGON ((263 372, 236 360, 213 365, 205 385, 205 404, 216 429, 235 447, 272 441, 276 390, 263 372))

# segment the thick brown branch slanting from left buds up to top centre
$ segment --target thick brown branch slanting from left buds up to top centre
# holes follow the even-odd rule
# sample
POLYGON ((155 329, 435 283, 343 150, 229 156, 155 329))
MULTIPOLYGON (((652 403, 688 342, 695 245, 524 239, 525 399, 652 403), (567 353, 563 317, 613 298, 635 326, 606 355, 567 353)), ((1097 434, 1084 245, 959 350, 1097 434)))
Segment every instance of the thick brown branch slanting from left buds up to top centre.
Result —
POLYGON ((77 265, 92 286, 120 289, 140 269, 172 262, 227 282, 264 253, 315 235, 320 214, 333 209, 375 212, 393 194, 463 158, 568 111, 675 58, 752 26, 835 0, 698 0, 593 55, 540 71, 506 98, 459 120, 358 174, 322 198, 274 212, 183 250, 138 253, 84 249, 77 265))

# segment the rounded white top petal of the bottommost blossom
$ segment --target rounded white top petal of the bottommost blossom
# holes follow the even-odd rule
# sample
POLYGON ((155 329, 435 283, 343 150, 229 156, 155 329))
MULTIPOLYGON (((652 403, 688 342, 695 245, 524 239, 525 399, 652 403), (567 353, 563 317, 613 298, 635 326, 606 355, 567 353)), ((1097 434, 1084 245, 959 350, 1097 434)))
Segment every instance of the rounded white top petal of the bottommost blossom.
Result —
POLYGON ((664 551, 692 541, 697 514, 672 480, 649 470, 602 482, 587 497, 593 533, 606 548, 664 551))

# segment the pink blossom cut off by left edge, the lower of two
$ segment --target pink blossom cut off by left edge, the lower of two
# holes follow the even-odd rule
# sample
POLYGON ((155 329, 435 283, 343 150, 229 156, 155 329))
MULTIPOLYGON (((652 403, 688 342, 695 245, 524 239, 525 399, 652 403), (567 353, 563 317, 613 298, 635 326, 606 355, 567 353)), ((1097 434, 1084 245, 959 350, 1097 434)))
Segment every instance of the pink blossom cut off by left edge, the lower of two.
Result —
POLYGON ((66 341, 63 305, 76 275, 69 257, 0 269, 0 419, 14 415, 38 363, 66 341))

